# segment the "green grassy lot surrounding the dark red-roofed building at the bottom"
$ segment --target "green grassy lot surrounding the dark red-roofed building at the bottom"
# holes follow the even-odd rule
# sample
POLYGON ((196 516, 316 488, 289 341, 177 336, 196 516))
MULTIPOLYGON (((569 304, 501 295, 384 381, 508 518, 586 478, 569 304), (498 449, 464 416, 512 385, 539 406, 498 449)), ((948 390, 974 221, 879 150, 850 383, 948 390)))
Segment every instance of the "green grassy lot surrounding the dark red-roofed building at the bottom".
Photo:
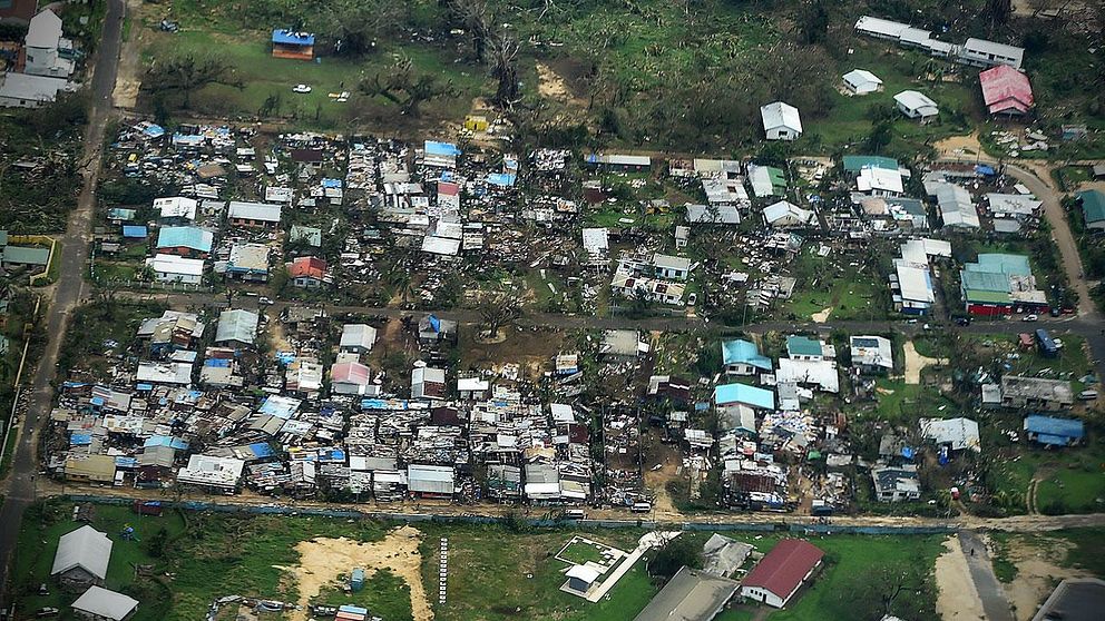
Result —
MULTIPOLYGON (((597 604, 558 591, 564 582, 560 573, 565 564, 551 556, 570 538, 571 532, 539 530, 515 533, 502 528, 429 526, 423 544, 423 558, 437 546, 438 536, 449 538, 450 566, 468 568, 463 573, 450 573, 449 601, 436 607, 437 619, 499 620, 547 619, 579 621, 613 621, 633 619, 658 591, 638 563, 612 591, 608 599, 597 604), (493 543, 492 543, 493 542, 493 543), (488 593, 495 593, 491 598, 488 593)), ((630 549, 640 533, 603 531, 584 533, 588 539, 630 549)), ((775 534, 724 533, 739 541, 747 541, 761 552, 767 552, 781 539, 775 534)), ((703 543, 711 533, 684 533, 703 543)), ((935 608, 936 590, 931 576, 936 556, 940 553, 938 536, 831 536, 814 539, 812 543, 827 553, 824 569, 811 589, 799 595, 796 603, 785 611, 776 611, 771 619, 813 620, 854 619, 854 593, 861 590, 858 580, 870 579, 868 573, 884 565, 898 568, 916 576, 917 590, 896 604, 896 612, 925 613, 935 608), (854 589, 853 589, 854 586, 854 589)), ((436 563, 424 563, 423 575, 436 579, 436 563)), ((868 584, 870 586, 870 584, 868 584)), ((751 618, 750 607, 736 607, 723 612, 728 621, 751 618)), ((921 617, 918 617, 921 618, 921 617)))

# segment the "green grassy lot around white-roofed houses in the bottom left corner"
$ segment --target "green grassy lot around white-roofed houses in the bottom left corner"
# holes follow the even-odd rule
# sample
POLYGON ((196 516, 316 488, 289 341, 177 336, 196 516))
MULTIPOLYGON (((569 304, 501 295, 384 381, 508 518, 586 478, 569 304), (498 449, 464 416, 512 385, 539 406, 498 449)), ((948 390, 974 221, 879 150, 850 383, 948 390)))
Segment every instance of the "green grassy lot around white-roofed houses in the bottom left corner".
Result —
MULTIPOLYGON (((385 531, 384 525, 374 522, 317 518, 176 512, 160 518, 138 516, 129 507, 117 505, 95 505, 94 515, 91 525, 115 542, 107 588, 121 590, 140 602, 135 617, 138 621, 194 621, 204 617, 213 600, 232 594, 294 600, 294 582, 286 580, 278 568, 296 564, 297 542, 314 536, 374 541, 385 531), (137 541, 119 536, 128 524, 135 528, 137 541), (164 546, 157 546, 153 542, 162 529, 166 540, 164 546), (136 572, 135 565, 149 565, 150 570, 136 572)), ((43 605, 60 608, 78 595, 62 593, 49 578, 58 538, 80 526, 71 516, 72 504, 66 502, 36 505, 26 516, 13 582, 20 611, 43 605), (50 585, 50 595, 39 597, 38 585, 43 582, 50 585)), ((370 582, 372 585, 379 593, 369 593, 366 586, 364 598, 377 599, 364 601, 375 601, 377 605, 400 599, 397 591, 405 586, 394 584, 387 575, 370 582)))

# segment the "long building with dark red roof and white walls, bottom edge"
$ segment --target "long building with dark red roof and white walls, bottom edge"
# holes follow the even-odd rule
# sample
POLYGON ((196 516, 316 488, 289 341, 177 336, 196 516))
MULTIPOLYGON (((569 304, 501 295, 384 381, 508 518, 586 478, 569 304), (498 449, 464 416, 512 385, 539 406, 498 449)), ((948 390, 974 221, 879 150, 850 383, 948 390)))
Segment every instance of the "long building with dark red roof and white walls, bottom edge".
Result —
POLYGON ((813 575, 824 552, 800 539, 780 541, 741 581, 741 595, 783 608, 813 575))

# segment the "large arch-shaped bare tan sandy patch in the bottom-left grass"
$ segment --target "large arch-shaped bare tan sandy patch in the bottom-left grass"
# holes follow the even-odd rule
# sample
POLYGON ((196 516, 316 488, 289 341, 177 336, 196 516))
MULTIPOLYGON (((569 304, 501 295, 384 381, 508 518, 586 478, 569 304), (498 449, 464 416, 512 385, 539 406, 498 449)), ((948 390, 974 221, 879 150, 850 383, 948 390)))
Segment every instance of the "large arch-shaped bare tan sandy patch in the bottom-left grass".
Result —
POLYGON ((433 611, 426 598, 422 584, 422 556, 418 544, 422 533, 413 526, 400 526, 388 533, 382 541, 356 543, 345 538, 314 539, 301 541, 295 549, 300 553, 300 564, 286 569, 295 576, 300 591, 300 610, 292 615, 293 621, 307 621, 307 604, 340 573, 352 568, 362 568, 365 576, 378 570, 388 569, 407 581, 411 588, 411 609, 414 621, 431 621, 433 611))

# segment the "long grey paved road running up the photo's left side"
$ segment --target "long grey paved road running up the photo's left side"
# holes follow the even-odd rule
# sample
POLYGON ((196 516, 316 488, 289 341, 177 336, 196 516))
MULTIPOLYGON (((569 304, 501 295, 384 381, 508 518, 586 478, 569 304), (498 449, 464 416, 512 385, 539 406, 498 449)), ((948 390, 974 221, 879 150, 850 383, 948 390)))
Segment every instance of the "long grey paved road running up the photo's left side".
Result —
MULTIPOLYGON (((119 56, 119 41, 123 31, 123 0, 109 0, 104 21, 104 33, 99 43, 96 67, 91 81, 91 109, 85 130, 85 185, 77 208, 69 217, 68 229, 61 246, 61 278, 55 288, 55 298, 47 315, 49 342, 46 353, 37 362, 31 379, 31 395, 26 418, 19 430, 12 473, 3 491, 3 506, 0 507, 0 609, 7 602, 8 566, 12 561, 19 524, 23 511, 36 497, 36 472, 38 460, 36 445, 38 430, 49 414, 53 402, 50 382, 57 369, 58 351, 65 334, 69 312, 81 299, 85 282, 85 262, 88 258, 88 244, 91 239, 92 211, 96 205, 96 185, 104 149, 104 130, 111 114, 111 90, 115 88, 115 73, 119 56)), ((28 551, 33 553, 33 551, 28 551)))

